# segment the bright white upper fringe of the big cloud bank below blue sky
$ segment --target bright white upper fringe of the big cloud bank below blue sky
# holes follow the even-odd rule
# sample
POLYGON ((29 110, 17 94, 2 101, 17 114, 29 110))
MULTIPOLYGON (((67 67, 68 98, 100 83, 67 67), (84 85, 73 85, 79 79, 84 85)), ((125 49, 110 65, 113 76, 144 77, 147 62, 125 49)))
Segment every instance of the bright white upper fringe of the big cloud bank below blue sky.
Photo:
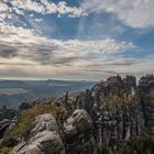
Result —
MULTIPOLYGON (((58 52, 69 52, 73 51, 79 54, 88 54, 88 53, 121 53, 128 50, 133 50, 135 46, 132 43, 127 42, 117 42, 113 38, 106 40, 53 40, 46 38, 38 34, 35 34, 33 30, 24 29, 24 28, 15 28, 13 25, 0 24, 0 41, 6 42, 8 44, 40 44, 47 45, 51 47, 56 47, 58 52)), ((56 52, 56 51, 55 51, 56 52)))

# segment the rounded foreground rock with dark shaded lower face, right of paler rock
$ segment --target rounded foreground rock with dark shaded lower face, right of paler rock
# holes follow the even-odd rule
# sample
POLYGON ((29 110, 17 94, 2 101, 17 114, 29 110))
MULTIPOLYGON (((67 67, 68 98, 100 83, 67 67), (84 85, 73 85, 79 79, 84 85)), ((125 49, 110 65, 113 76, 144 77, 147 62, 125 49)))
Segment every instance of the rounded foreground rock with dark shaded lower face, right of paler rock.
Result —
POLYGON ((67 154, 92 154, 92 121, 86 110, 75 110, 66 120, 64 142, 67 154))

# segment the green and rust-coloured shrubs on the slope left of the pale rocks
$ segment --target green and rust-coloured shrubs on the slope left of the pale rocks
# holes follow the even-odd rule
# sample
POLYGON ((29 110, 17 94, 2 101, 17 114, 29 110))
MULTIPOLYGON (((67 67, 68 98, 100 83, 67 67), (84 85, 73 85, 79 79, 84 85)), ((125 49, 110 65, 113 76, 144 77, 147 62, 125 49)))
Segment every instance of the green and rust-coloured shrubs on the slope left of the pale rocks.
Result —
POLYGON ((50 105, 37 105, 20 112, 18 123, 6 132, 4 138, 0 143, 0 147, 12 147, 16 145, 19 140, 26 139, 33 128, 33 121, 38 114, 53 112, 55 117, 58 116, 59 110, 53 107, 54 106, 50 105))

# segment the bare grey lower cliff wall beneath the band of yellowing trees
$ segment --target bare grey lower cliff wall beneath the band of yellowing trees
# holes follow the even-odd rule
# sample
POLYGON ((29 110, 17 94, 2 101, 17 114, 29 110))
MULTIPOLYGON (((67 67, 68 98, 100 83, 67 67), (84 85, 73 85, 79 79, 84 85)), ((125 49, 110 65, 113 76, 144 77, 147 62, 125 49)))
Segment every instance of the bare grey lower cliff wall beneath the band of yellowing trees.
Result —
POLYGON ((116 147, 119 142, 138 135, 143 129, 144 119, 139 102, 105 107, 101 114, 101 135, 99 133, 98 138, 102 136, 101 141, 107 146, 116 147))

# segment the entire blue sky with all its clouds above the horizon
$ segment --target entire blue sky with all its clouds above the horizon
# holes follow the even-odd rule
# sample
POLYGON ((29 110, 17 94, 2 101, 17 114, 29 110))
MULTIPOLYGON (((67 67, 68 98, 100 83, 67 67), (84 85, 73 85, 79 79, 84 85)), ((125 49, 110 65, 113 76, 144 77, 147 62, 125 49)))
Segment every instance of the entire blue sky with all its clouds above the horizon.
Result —
POLYGON ((154 73, 154 0, 0 0, 0 78, 154 73))

